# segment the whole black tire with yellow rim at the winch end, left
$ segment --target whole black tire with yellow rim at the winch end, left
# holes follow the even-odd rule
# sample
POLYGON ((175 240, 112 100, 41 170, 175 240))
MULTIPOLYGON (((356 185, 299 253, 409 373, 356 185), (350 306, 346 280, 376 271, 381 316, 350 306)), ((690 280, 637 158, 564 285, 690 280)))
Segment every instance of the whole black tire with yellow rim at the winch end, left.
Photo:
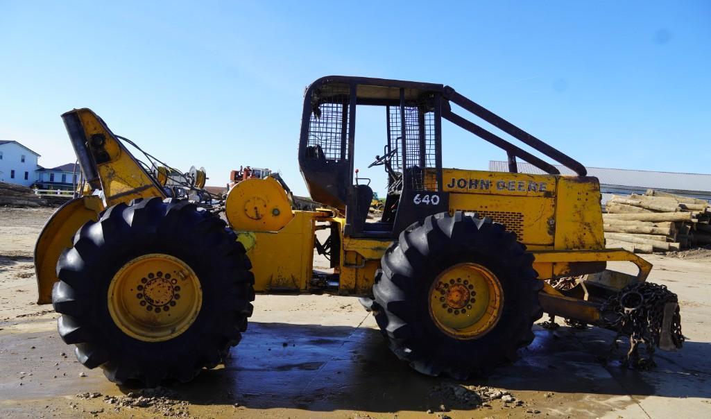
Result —
POLYGON ((120 203, 60 256, 59 334, 114 383, 190 381, 223 361, 247 328, 250 267, 225 222, 193 203, 120 203))

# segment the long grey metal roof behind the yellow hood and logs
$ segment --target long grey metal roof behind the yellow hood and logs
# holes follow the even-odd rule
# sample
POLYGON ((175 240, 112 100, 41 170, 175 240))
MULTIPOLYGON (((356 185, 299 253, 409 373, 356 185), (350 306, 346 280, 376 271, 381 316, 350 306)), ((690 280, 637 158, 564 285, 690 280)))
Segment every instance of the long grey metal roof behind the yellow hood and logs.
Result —
MULTIPOLYGON (((560 174, 574 175, 565 166, 556 164, 560 174)), ((490 171, 508 171, 508 162, 489 161, 490 171)), ((545 174, 533 164, 523 161, 518 163, 518 171, 528 174, 545 174)), ((609 169, 606 167, 587 167, 588 176, 595 176, 600 184, 608 186, 634 186, 646 189, 668 189, 675 191, 711 192, 711 174, 675 173, 672 171, 651 171, 633 169, 609 169)))

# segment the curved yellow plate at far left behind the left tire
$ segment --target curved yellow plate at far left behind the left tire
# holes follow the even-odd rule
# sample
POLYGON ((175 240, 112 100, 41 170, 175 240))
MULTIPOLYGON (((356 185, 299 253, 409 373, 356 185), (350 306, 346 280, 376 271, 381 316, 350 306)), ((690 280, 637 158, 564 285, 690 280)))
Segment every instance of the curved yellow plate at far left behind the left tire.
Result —
POLYGON ((98 196, 82 196, 55 211, 42 229, 35 245, 37 304, 52 302, 52 287, 57 282, 57 261, 65 248, 72 247, 77 230, 87 221, 97 221, 104 210, 98 196))

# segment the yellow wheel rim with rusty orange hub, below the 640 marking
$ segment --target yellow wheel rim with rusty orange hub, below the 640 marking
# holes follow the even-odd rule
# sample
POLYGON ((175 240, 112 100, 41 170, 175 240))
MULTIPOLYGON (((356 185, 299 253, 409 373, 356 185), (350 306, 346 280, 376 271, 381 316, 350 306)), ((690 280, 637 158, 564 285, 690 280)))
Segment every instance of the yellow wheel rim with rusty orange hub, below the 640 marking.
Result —
POLYGON ((442 332, 457 339, 488 333, 501 317, 503 290, 491 270, 459 263, 444 270, 429 288, 429 315, 442 332))

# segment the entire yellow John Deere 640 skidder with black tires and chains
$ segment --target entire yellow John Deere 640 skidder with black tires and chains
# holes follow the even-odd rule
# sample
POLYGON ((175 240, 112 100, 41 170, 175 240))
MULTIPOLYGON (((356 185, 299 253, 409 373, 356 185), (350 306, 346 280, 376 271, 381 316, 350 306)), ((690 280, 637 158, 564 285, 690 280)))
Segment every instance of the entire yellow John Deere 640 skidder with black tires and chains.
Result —
POLYGON ((153 166, 141 164, 92 111, 63 120, 84 194, 38 239, 39 302, 62 314, 59 332, 77 359, 117 383, 188 381, 220 363, 247 327, 255 291, 362 297, 398 358, 455 378, 513 360, 543 312, 630 336, 633 356, 640 342, 650 351, 683 342, 676 296, 645 282, 651 265, 605 249, 597 179, 451 87, 341 76, 311 84, 299 165, 318 211, 294 210, 272 177, 210 197, 203 171, 181 174, 149 154, 153 166), (561 176, 452 104, 577 175, 561 176), (374 222, 373 191, 354 177, 363 107, 380 107, 385 121, 371 166, 383 166, 387 196, 374 222), (442 120, 503 149, 508 172, 444 166, 442 120), (518 173, 520 160, 545 174, 518 173), (314 248, 333 273, 314 274, 314 248), (606 270, 609 261, 638 274, 606 270))

